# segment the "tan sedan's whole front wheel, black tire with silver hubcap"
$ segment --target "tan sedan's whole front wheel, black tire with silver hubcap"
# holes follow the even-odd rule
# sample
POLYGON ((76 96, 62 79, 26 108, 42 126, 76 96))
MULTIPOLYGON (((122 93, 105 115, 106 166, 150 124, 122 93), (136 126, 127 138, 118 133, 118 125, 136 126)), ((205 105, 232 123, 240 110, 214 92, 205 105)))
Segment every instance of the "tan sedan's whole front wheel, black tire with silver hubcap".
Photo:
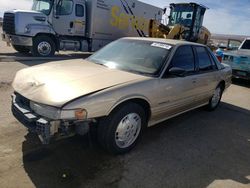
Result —
POLYGON ((98 141, 106 151, 124 154, 136 146, 145 127, 143 108, 136 103, 126 103, 100 120, 97 127, 98 141))

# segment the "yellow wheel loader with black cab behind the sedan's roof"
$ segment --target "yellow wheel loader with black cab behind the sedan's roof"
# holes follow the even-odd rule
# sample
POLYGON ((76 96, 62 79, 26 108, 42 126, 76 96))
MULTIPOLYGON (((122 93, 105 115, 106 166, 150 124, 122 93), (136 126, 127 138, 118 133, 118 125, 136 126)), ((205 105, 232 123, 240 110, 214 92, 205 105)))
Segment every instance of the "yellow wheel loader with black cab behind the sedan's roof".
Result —
MULTIPOLYGON (((207 44, 211 33, 202 26, 208 8, 197 3, 172 3, 166 25, 150 20, 149 37, 180 39, 207 44)), ((164 12, 166 13, 166 10, 164 12)))

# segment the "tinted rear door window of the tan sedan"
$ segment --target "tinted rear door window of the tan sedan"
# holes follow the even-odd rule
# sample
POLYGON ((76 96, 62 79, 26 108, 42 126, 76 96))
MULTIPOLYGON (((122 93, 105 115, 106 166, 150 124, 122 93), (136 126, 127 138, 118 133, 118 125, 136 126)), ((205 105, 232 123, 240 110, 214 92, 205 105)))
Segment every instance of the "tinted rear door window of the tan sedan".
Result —
POLYGON ((207 53, 206 48, 204 47, 195 47, 197 52, 197 57, 199 61, 199 70, 200 71, 210 71, 214 69, 214 65, 211 62, 211 59, 207 53))

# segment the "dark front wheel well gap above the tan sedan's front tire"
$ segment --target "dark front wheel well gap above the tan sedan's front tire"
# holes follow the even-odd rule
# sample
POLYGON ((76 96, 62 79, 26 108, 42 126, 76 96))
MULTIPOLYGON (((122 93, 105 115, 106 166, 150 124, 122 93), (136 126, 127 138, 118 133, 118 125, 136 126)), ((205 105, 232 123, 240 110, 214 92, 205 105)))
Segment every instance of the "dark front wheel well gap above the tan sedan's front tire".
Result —
POLYGON ((118 106, 116 106, 112 110, 112 112, 115 111, 115 110, 117 110, 121 106, 126 105, 129 102, 132 102, 132 103, 140 105, 144 109, 144 111, 145 111, 145 115, 146 115, 147 121, 150 119, 150 117, 151 117, 150 105, 149 105, 149 103, 146 100, 140 99, 140 98, 126 100, 126 101, 120 103, 118 106))

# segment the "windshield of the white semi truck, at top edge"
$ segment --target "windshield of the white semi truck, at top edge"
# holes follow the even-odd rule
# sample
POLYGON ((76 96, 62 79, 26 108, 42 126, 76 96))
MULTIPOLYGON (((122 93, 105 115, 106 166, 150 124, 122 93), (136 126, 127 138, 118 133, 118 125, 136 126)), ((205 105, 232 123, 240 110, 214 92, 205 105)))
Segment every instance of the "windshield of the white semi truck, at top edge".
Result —
POLYGON ((53 0, 34 0, 32 10, 49 15, 52 5, 53 0))

